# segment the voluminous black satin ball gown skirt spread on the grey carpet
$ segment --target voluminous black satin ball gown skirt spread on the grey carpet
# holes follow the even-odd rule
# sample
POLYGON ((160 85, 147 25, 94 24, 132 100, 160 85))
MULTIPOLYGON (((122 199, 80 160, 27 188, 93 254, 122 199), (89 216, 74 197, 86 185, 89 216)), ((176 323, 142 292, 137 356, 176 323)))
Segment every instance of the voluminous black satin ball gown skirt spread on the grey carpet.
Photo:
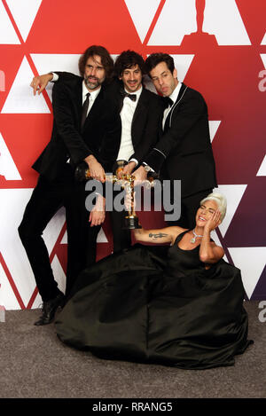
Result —
POLYGON ((98 357, 205 369, 233 365, 248 320, 239 269, 206 270, 200 247, 137 245, 82 272, 55 323, 59 339, 98 357))

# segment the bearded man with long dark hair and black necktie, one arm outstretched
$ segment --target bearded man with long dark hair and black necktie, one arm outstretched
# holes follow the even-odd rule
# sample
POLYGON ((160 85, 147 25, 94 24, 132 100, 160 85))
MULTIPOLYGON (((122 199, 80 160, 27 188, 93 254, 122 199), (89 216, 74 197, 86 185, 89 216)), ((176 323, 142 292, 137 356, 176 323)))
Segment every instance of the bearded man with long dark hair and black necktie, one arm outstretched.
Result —
MULTIPOLYGON (((42 317, 35 325, 49 324, 64 294, 54 279, 42 234, 60 207, 66 208, 67 271, 66 295, 86 265, 96 260, 96 239, 105 210, 85 208, 84 185, 74 179, 82 161, 91 177, 104 181, 120 143, 120 121, 110 105, 106 82, 113 74, 113 59, 102 46, 91 46, 82 55, 81 77, 56 82, 52 90, 53 129, 51 141, 35 161, 40 174, 19 227, 20 239, 43 299, 42 317)), ((52 75, 51 75, 52 76, 52 75)), ((98 195, 99 202, 103 200, 98 195)), ((98 202, 97 202, 98 204, 98 202)))

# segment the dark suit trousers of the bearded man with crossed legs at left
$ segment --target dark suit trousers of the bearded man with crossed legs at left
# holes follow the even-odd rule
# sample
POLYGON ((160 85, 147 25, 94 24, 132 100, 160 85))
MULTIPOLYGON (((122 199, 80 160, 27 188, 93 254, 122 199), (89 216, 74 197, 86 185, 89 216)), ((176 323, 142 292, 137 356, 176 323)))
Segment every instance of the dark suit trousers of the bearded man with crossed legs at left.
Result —
POLYGON ((73 169, 68 164, 62 175, 52 182, 40 175, 27 203, 19 233, 43 302, 57 296, 59 288, 42 234, 52 216, 63 206, 66 208, 67 227, 66 295, 80 271, 96 260, 96 239, 100 226, 89 226, 84 184, 74 181, 73 169))

